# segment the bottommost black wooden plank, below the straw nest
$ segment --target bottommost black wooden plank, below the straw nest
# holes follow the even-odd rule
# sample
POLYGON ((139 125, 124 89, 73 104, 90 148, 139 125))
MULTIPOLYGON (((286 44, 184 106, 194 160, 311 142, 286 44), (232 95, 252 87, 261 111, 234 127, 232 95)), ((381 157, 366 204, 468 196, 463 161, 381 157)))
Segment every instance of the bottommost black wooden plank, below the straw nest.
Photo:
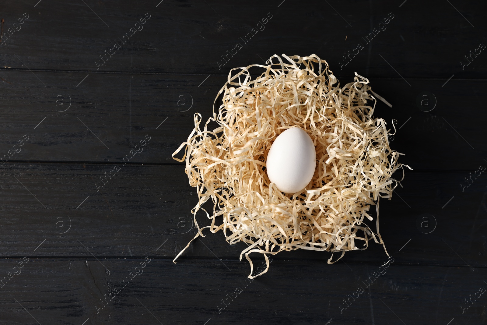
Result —
MULTIPOLYGON (((348 268, 324 261, 274 260, 272 272, 253 281, 246 279, 247 268, 234 260, 178 265, 167 259, 145 260, 30 258, 1 288, 2 319, 13 325, 487 321, 485 293, 477 293, 486 287, 482 270, 405 266, 400 255, 387 268, 380 268, 381 263, 351 263, 348 268), (462 313, 461 306, 469 306, 464 299, 476 293, 480 298, 472 299, 462 313)), ((19 261, 2 259, 2 276, 19 261)))

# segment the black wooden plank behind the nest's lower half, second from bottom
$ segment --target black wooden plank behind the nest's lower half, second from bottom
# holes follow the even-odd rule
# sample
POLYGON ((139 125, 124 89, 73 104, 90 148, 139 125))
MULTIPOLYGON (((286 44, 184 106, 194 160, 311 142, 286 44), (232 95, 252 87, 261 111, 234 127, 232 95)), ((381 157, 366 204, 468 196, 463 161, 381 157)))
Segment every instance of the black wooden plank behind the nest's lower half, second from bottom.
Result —
MULTIPOLYGON (((2 172, 0 256, 18 257, 38 247, 33 256, 129 258, 160 247, 152 256, 174 257, 196 233, 190 210, 197 198, 182 166, 121 166, 97 191, 99 177, 112 168, 8 165, 2 172)), ((392 200, 380 202, 380 231, 390 254, 401 251, 404 263, 410 264, 486 266, 486 175, 471 178, 462 192, 460 184, 467 184, 467 176, 466 172, 407 173, 404 188, 396 189, 392 200)), ((211 211, 212 205, 206 208, 211 211)), ((209 224, 204 211, 198 213, 198 222, 209 224)), ((375 228, 375 221, 370 226, 375 228)), ((246 247, 228 245, 222 232, 205 234, 189 246, 181 263, 187 257, 238 258, 246 247)), ((365 251, 349 252, 344 261, 379 263, 385 256, 381 245, 371 243, 365 251)), ((329 257, 326 252, 305 250, 276 256, 329 257)), ((245 260, 242 264, 248 267, 245 260)))

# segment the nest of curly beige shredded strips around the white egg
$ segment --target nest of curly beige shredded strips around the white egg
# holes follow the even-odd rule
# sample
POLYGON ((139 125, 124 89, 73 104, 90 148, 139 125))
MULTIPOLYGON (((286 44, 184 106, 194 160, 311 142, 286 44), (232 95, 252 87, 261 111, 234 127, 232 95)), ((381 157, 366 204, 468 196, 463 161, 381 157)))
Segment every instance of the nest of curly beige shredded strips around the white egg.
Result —
POLYGON ((189 184, 199 197, 192 210, 198 229, 193 240, 209 228, 223 230, 229 244, 245 242, 248 248, 240 259, 245 255, 250 263, 249 278, 267 272, 267 255, 283 250, 341 252, 335 261, 331 255, 332 264, 348 250, 366 249, 370 239, 384 245, 378 201, 391 198, 398 184, 393 172, 409 166, 397 163, 401 153, 389 147, 386 122, 373 117, 375 97, 383 99, 356 73, 354 82, 340 87, 328 63, 316 55, 274 55, 266 63, 230 70, 215 98, 223 94, 218 111, 203 127, 201 115, 195 114, 194 130, 173 153, 175 160, 186 162, 189 184), (262 74, 252 78, 250 68, 262 74), (208 130, 210 121, 219 127, 208 130), (285 194, 269 181, 265 162, 276 137, 293 126, 313 140, 317 164, 304 190, 285 194), (183 158, 175 158, 183 148, 183 158), (213 214, 206 212, 211 225, 200 227, 196 212, 209 199, 214 204, 213 214), (368 211, 375 204, 374 232, 368 211), (257 275, 252 275, 252 252, 264 254, 266 261, 257 275))

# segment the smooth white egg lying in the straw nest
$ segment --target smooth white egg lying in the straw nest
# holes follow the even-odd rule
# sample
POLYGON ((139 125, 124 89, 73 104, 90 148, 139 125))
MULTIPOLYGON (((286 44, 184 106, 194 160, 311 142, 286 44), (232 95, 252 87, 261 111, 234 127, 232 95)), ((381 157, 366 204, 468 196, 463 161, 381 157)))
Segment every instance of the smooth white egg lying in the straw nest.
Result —
POLYGON ((303 190, 313 178, 315 168, 315 145, 306 131, 299 127, 282 132, 269 149, 267 176, 281 192, 303 190))

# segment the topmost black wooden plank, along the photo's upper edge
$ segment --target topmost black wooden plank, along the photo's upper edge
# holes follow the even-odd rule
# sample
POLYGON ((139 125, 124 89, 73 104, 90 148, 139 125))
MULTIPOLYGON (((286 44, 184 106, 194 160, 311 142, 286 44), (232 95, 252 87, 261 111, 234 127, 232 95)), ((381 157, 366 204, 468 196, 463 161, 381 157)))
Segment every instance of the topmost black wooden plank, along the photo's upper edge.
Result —
POLYGON ((418 10, 411 2, 386 0, 341 1, 333 6, 311 1, 312 10, 295 10, 291 1, 260 2, 257 7, 249 3, 239 7, 241 15, 235 15, 234 4, 227 1, 166 0, 136 6, 85 2, 4 3, 4 32, 14 28, 24 13, 29 18, 15 27, 18 31, 10 29, 12 35, 2 45, 2 66, 208 75, 262 63, 274 54, 316 53, 328 60, 339 77, 358 71, 406 79, 453 74, 455 78, 477 78, 487 71, 485 54, 478 50, 480 43, 486 44, 479 29, 483 17, 475 16, 486 10, 486 3, 480 0, 455 6, 441 2, 441 15, 434 2, 422 3, 418 10), (146 13, 150 19, 135 26, 146 13), (262 19, 267 19, 266 24, 262 25, 262 19), (123 44, 122 38, 131 28, 141 30, 123 44), (121 46, 116 51, 115 42, 121 46), (104 62, 100 56, 106 53, 113 55, 98 68, 104 62), (349 62, 346 65, 344 56, 349 62), (225 61, 228 63, 220 68, 225 61), (465 66, 467 62, 471 63, 465 66))

